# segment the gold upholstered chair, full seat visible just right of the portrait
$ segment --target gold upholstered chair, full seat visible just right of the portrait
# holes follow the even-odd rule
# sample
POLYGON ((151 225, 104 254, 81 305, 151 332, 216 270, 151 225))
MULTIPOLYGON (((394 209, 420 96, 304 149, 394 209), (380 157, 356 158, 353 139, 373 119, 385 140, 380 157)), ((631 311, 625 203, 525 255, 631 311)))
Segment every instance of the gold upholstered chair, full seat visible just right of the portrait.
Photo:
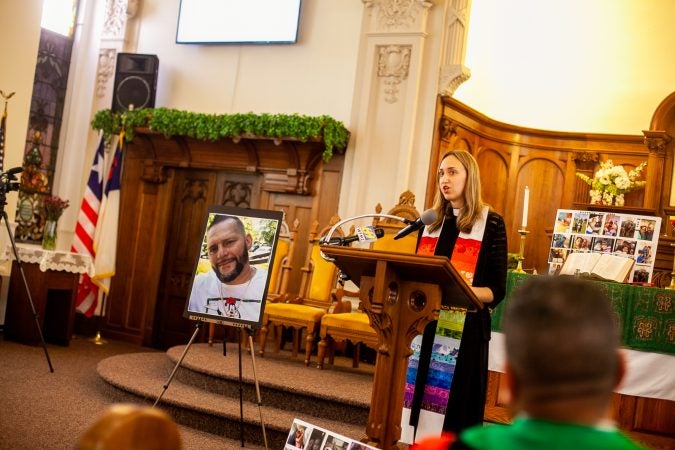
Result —
MULTIPOLYGON (((260 329, 260 355, 265 355, 265 347, 270 327, 293 329, 294 357, 300 350, 300 336, 306 330, 305 337, 305 365, 309 365, 312 354, 312 345, 316 331, 318 330, 321 317, 335 307, 335 288, 337 286, 337 267, 323 259, 319 240, 328 230, 340 220, 333 216, 329 226, 318 231, 319 224, 314 222, 309 233, 309 246, 307 260, 302 267, 302 279, 300 295, 292 298, 287 296, 280 302, 270 302, 265 305, 265 311, 260 329)), ((341 236, 338 228, 334 236, 341 236)), ((275 351, 281 347, 281 330, 277 330, 275 339, 275 351)))

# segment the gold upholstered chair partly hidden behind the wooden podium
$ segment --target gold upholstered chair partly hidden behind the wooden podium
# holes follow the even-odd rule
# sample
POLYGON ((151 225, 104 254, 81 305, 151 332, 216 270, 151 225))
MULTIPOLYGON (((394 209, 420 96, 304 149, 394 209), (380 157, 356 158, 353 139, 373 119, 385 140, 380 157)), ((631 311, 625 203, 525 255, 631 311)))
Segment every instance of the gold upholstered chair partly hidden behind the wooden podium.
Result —
MULTIPOLYGON (((378 203, 375 207, 375 212, 380 214, 382 206, 378 203)), ((403 217, 410 221, 414 221, 419 217, 419 212, 415 209, 415 195, 406 191, 399 197, 398 204, 387 212, 388 215, 403 217)), ((417 234, 411 233, 399 240, 394 240, 396 233, 405 226, 403 222, 395 219, 384 218, 379 220, 375 218, 373 225, 384 228, 385 235, 371 244, 374 250, 395 251, 401 253, 415 253, 417 246, 417 234)), ((343 287, 337 290, 338 301, 343 301, 344 294, 343 287)), ((350 295, 357 293, 349 293, 350 295)), ((351 304, 351 303, 350 303, 351 304)), ((345 310, 345 304, 340 307, 345 310)), ((352 367, 356 368, 359 365, 361 344, 367 345, 371 348, 376 348, 378 345, 378 336, 375 330, 370 326, 368 316, 360 310, 338 313, 326 314, 321 319, 321 327, 319 329, 319 336, 321 340, 318 345, 317 367, 322 369, 326 353, 328 353, 329 364, 334 361, 334 345, 336 342, 350 341, 354 345, 354 354, 352 358, 352 367)))

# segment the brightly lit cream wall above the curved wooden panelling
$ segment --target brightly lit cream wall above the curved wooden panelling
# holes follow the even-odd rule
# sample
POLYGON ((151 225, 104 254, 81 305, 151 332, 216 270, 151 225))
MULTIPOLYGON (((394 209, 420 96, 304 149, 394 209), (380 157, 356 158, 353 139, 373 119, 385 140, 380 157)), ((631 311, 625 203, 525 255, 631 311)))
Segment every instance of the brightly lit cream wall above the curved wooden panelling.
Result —
POLYGON ((641 134, 675 90, 673 19, 672 0, 474 0, 455 97, 516 125, 641 134))

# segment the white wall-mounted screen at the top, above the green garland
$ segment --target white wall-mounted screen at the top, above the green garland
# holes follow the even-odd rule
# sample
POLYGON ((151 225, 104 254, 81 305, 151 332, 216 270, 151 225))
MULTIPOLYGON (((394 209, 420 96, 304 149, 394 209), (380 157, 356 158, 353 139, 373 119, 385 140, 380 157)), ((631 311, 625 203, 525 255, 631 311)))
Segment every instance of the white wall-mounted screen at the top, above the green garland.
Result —
POLYGON ((292 44, 301 0, 181 0, 178 44, 292 44))

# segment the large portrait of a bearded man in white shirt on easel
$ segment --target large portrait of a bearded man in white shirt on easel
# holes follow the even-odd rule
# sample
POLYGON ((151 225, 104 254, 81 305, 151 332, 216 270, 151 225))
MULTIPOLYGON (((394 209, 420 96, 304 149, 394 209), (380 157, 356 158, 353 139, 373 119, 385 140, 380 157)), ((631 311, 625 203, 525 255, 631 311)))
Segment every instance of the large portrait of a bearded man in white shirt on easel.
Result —
POLYGON ((184 317, 260 328, 283 212, 212 205, 184 317))

